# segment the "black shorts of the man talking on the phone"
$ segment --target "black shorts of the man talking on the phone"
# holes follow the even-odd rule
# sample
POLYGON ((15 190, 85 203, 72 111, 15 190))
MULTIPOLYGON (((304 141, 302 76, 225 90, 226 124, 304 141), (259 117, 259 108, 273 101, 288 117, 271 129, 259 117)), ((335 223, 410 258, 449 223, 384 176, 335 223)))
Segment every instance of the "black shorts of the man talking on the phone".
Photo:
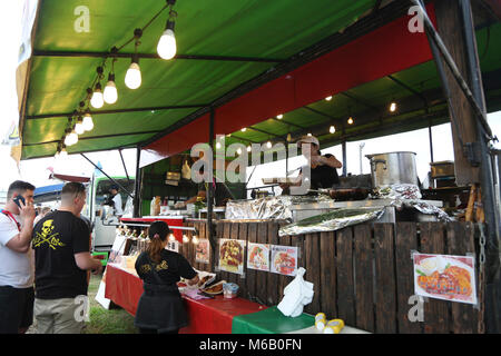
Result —
POLYGON ((18 334, 33 323, 33 287, 0 286, 0 334, 18 334))

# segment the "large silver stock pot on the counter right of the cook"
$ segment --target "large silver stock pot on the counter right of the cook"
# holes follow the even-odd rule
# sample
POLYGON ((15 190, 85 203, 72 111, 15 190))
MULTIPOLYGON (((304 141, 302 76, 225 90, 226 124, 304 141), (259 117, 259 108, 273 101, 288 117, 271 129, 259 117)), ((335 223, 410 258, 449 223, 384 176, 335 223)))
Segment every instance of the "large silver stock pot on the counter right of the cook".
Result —
POLYGON ((373 187, 409 184, 418 186, 415 152, 366 155, 371 161, 373 187))

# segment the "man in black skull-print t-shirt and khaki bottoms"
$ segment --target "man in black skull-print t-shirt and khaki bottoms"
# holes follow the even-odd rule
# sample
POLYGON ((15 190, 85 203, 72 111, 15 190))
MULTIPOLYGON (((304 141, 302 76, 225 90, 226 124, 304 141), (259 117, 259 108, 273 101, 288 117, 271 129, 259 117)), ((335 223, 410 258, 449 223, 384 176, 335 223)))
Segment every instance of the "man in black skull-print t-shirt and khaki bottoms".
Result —
POLYGON ((86 271, 102 270, 89 253, 89 227, 79 218, 85 204, 85 186, 69 182, 62 187, 60 208, 35 226, 35 317, 40 334, 80 334, 84 328, 86 271))

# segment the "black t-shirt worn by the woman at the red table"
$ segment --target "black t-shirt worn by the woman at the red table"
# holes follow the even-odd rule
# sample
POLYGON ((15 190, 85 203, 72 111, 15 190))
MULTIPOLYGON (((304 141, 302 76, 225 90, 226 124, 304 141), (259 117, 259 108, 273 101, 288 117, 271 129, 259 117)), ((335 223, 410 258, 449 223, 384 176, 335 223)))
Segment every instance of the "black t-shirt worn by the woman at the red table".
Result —
POLYGON ((137 258, 136 271, 145 283, 174 285, 180 277, 191 279, 197 275, 184 256, 167 249, 163 249, 160 256, 159 264, 154 263, 148 253, 141 253, 137 258))

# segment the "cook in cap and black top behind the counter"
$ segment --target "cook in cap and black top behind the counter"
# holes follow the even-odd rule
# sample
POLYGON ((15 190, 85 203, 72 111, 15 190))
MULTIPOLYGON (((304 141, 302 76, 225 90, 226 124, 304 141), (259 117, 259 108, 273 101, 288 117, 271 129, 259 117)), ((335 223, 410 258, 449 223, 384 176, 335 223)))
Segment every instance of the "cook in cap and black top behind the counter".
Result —
MULTIPOLYGON (((303 149, 304 145, 310 146, 310 157, 305 156, 305 151, 303 151, 303 156, 308 161, 311 168, 311 187, 312 190, 318 189, 330 189, 334 185, 340 182, 340 177, 337 176, 337 168, 342 168, 343 164, 336 159, 335 156, 331 154, 326 154, 322 156, 320 151, 320 142, 318 139, 314 136, 303 136, 298 141, 297 146, 299 149, 303 149)), ((303 181, 303 169, 299 170, 299 175, 293 182, 281 184, 281 188, 284 189, 283 194, 289 192, 291 186, 301 186, 303 181)))

